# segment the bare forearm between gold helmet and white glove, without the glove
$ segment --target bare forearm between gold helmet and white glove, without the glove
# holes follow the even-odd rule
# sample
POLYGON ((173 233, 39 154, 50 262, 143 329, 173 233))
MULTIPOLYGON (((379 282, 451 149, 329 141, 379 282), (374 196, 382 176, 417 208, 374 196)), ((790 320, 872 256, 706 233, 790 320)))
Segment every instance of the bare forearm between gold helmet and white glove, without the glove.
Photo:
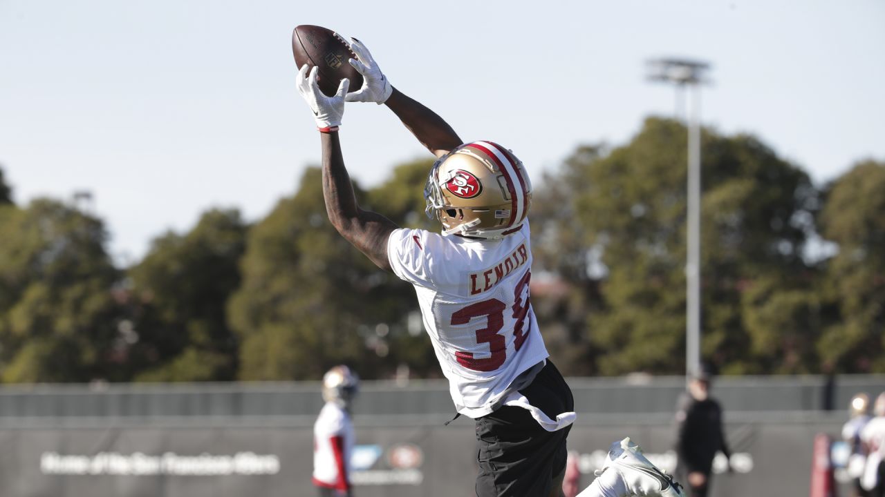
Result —
POLYGON ((422 103, 393 88, 393 93, 385 104, 405 127, 418 138, 436 157, 442 157, 449 150, 458 147, 463 141, 455 130, 436 112, 427 109, 422 103))

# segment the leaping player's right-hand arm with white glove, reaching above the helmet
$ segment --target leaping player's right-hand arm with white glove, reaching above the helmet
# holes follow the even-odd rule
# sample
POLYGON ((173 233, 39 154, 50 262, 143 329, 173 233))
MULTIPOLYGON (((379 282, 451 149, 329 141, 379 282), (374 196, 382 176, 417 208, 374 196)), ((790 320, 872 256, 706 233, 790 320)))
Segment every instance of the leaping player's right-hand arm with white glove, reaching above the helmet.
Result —
POLYGON ((351 58, 349 62, 363 75, 363 86, 345 96, 348 102, 387 104, 405 127, 436 157, 442 157, 463 142, 449 123, 434 111, 393 88, 363 42, 350 38, 350 50, 357 54, 357 58, 351 58))

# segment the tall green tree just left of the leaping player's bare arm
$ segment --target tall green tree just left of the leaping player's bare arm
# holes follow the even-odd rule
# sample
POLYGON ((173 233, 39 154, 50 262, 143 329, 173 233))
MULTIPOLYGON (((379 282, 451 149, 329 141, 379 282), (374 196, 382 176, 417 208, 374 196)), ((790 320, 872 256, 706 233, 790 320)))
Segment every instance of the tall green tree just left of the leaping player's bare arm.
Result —
POLYGON ((377 362, 358 330, 377 323, 362 312, 377 273, 329 224, 319 169, 308 169, 296 195, 249 233, 228 308, 241 340, 239 378, 319 378, 335 363, 371 377, 377 362))

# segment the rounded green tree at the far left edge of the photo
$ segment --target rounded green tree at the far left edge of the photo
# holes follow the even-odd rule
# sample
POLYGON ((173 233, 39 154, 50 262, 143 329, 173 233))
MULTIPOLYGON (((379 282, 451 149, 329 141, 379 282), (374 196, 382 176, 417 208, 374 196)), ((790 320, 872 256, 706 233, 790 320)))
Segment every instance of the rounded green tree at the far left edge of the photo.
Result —
POLYGON ((119 279, 98 218, 51 200, 0 208, 0 378, 122 379, 119 279))

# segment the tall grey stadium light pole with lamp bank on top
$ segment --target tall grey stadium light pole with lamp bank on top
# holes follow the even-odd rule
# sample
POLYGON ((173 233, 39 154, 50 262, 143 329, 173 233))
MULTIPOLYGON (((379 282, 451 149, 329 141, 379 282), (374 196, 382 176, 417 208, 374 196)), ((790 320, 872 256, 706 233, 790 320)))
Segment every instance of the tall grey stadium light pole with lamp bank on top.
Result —
POLYGON ((688 255, 686 256, 685 374, 699 371, 701 360, 701 90, 710 65, 680 58, 648 61, 649 80, 674 83, 678 92, 689 89, 688 255))

